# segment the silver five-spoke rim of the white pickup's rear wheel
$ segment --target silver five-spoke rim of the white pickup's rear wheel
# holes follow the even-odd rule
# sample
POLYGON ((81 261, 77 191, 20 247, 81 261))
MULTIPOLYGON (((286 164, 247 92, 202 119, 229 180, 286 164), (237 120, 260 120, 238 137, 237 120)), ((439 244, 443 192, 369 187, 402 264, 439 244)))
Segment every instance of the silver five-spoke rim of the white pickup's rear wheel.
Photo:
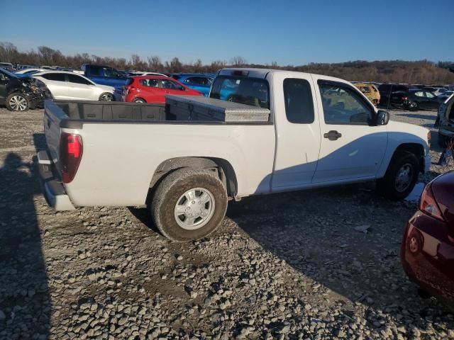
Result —
POLYGON ((183 229, 203 227, 214 214, 214 196, 205 188, 192 188, 179 197, 175 204, 175 221, 183 229))

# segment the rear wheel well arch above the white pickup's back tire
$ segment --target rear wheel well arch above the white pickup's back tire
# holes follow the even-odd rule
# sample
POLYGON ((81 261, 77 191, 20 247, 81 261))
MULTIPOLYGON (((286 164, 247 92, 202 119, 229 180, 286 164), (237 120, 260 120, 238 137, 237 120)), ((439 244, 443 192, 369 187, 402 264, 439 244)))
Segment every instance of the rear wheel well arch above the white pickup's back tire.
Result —
POLYGON ((233 166, 226 159, 215 157, 177 157, 167 159, 157 166, 153 178, 150 181, 150 188, 153 189, 171 172, 182 168, 196 168, 216 171, 227 191, 227 196, 235 198, 238 181, 233 166))

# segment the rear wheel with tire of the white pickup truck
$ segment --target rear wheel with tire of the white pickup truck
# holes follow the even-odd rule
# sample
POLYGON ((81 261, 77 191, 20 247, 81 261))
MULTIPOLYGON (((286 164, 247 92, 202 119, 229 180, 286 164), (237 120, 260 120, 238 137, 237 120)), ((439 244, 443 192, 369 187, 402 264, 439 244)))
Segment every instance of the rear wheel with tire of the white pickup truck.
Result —
POLYGON ((157 229, 172 241, 201 239, 226 215, 227 193, 218 177, 203 169, 179 169, 157 187, 150 212, 157 229))

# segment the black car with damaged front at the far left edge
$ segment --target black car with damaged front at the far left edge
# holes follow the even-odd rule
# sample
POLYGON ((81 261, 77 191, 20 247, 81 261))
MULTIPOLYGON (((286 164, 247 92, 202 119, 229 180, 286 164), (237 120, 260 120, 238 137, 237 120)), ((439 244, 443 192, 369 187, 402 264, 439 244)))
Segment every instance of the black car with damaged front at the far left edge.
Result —
POLYGON ((44 84, 31 77, 18 77, 0 68, 0 105, 11 111, 41 108, 47 94, 44 84))

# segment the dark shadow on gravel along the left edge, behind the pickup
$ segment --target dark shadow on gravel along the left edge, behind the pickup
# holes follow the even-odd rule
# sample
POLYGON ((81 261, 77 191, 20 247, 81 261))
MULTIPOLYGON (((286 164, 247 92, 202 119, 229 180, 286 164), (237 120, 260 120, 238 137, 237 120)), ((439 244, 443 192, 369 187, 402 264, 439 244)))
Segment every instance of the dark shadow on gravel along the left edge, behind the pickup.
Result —
POLYGON ((33 195, 35 164, 0 162, 0 338, 48 339, 50 294, 33 195))

